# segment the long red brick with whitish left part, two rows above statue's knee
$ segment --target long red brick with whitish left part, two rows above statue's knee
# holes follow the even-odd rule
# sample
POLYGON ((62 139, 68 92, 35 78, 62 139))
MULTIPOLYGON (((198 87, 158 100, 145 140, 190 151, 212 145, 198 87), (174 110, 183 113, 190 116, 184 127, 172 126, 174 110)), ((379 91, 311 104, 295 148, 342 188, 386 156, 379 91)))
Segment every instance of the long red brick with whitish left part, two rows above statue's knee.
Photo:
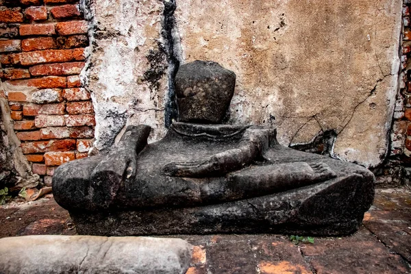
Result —
POLYGON ((48 141, 34 141, 22 142, 20 145, 24 154, 44 153, 47 151, 71 151, 75 150, 75 140, 48 140, 48 141))

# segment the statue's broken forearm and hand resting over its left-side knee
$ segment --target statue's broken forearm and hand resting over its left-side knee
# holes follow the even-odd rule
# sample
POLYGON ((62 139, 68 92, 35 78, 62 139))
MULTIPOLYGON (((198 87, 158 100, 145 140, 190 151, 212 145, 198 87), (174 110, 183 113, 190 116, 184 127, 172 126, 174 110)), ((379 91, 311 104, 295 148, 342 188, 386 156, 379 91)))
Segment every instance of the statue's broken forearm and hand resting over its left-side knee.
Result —
POLYGON ((98 206, 108 207, 121 182, 136 175, 137 156, 147 145, 150 130, 148 125, 128 126, 116 147, 92 171, 90 186, 98 206))

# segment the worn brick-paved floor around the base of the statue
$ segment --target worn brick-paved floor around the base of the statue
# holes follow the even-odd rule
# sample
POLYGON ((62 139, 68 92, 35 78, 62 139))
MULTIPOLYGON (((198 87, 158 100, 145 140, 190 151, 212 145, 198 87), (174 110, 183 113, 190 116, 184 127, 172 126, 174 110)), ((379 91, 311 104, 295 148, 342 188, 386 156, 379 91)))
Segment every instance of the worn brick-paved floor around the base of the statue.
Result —
MULTIPOLYGON (((314 244, 271 234, 178 237, 195 245, 188 274, 411 273, 411 192, 377 190, 363 224, 351 236, 316 237, 314 244)), ((0 207, 0 238, 75 233, 52 197, 0 207)))

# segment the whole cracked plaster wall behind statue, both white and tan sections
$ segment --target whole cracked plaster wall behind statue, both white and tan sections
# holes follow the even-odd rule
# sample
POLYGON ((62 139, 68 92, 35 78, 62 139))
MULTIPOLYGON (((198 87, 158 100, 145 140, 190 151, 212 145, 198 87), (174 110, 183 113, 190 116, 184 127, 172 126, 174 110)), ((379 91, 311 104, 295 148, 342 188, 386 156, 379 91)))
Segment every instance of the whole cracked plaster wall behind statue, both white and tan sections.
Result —
POLYGON ((386 155, 402 1, 177 0, 168 37, 171 1, 83 2, 92 39, 83 82, 95 105, 97 149, 127 124, 151 125, 151 141, 164 135, 172 54, 236 73, 229 123, 276 125, 282 145, 335 132, 332 155, 365 166, 386 155))

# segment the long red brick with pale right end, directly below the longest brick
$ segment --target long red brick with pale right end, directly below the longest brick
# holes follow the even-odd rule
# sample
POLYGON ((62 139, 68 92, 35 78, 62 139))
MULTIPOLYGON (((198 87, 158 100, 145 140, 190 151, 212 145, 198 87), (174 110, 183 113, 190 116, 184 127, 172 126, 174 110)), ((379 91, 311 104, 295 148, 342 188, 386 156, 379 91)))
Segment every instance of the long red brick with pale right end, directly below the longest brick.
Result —
POLYGON ((32 66, 29 71, 34 76, 38 75, 72 75, 79 74, 84 67, 84 62, 38 64, 32 66))

